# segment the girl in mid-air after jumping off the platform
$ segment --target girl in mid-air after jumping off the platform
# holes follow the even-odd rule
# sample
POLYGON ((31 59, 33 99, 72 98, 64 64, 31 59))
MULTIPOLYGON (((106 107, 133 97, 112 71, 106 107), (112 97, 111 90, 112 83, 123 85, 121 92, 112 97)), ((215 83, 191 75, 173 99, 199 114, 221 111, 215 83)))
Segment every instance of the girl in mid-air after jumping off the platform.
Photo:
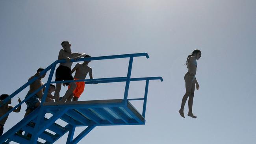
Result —
POLYGON ((192 113, 192 106, 193 106, 193 98, 194 98, 194 92, 195 92, 195 87, 198 90, 199 85, 197 82, 197 79, 195 77, 196 72, 197 72, 197 59, 200 59, 201 57, 201 51, 200 50, 194 50, 192 54, 187 56, 187 68, 188 72, 185 74, 184 79, 186 83, 186 93, 182 98, 181 102, 181 107, 179 110, 180 116, 184 117, 184 106, 187 101, 187 98, 189 97, 188 100, 188 114, 187 116, 191 116, 192 118, 197 118, 197 116, 194 116, 192 113))

